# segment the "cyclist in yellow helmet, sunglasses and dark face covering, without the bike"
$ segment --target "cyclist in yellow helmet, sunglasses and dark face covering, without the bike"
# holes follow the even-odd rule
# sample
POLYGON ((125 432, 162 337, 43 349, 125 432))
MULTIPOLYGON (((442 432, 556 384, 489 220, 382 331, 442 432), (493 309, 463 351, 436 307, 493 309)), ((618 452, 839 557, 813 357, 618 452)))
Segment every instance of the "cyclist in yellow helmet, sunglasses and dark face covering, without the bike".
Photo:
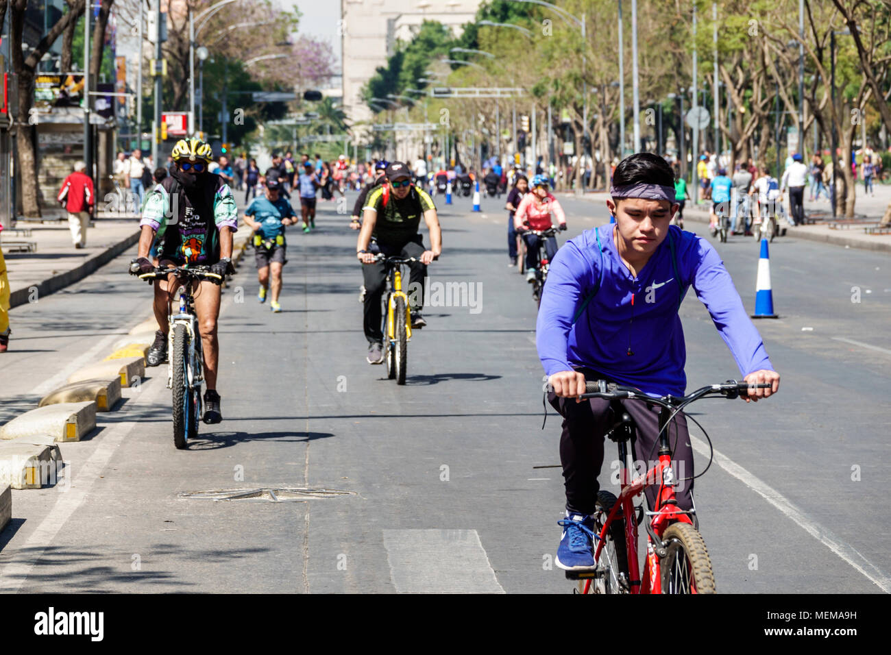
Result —
MULTIPOLYGON (((238 229, 238 210, 228 184, 208 172, 213 158, 210 146, 200 139, 180 139, 173 152, 174 168, 156 184, 145 202, 139 222, 142 234, 134 267, 135 274, 151 273, 149 259, 152 242, 158 239, 159 266, 200 264, 210 266, 213 273, 233 273, 233 233, 238 229)), ((220 311, 219 282, 196 282, 195 312, 200 326, 204 351, 204 422, 223 420, 217 393, 217 318, 220 311)), ((151 345, 148 364, 157 366, 167 359, 168 293, 176 291, 176 280, 155 282, 154 313, 159 330, 151 345)))

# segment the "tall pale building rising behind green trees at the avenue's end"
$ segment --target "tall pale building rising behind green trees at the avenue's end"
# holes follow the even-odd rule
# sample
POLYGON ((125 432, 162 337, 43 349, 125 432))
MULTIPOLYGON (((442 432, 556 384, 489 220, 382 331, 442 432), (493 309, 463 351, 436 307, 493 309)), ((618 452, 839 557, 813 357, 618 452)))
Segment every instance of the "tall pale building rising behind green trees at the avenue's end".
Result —
POLYGON ((362 87, 387 64, 396 41, 411 40, 424 20, 437 20, 460 36, 480 0, 340 0, 343 109, 353 124, 372 118, 362 87))

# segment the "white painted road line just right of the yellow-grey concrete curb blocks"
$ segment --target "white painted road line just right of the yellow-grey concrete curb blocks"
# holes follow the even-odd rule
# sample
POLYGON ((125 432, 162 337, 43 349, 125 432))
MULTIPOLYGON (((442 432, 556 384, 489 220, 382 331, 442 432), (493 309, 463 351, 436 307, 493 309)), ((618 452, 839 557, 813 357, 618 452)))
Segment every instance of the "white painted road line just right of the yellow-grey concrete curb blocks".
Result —
MULTIPOLYGON (((130 398, 129 403, 147 407, 155 405, 159 400, 161 391, 167 390, 167 387, 159 380, 160 378, 157 378, 156 381, 149 381, 144 384, 141 388, 142 390, 130 398), (151 389, 146 389, 146 387, 151 389)), ((28 579, 31 569, 43 557, 45 549, 53 543, 61 528, 73 516, 74 512, 77 512, 80 505, 83 504, 96 479, 99 478, 108 465, 111 456, 115 454, 118 446, 137 425, 137 421, 116 423, 102 432, 102 439, 98 441, 93 454, 90 455, 85 463, 77 467, 77 471, 73 470, 76 467, 65 467, 65 475, 70 476, 69 489, 60 493, 59 499, 53 505, 53 509, 34 529, 34 532, 30 534, 25 543, 14 549, 9 561, 4 565, 3 569, 0 569, 0 594, 17 594, 20 592, 21 586, 28 579)), ((8 553, 8 544, 7 548, 4 549, 4 554, 6 553, 8 553)))

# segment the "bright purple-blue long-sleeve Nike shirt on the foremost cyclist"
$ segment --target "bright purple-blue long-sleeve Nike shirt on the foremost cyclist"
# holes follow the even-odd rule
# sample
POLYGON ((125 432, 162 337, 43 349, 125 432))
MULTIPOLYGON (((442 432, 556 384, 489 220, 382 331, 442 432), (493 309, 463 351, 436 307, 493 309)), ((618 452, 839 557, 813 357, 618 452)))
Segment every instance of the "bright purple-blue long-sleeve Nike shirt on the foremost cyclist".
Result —
POLYGON ((613 227, 586 230, 552 260, 536 325, 545 373, 586 367, 652 396, 683 396, 687 354, 677 312, 679 293, 688 286, 707 307, 740 373, 773 370, 764 342, 710 243, 672 225, 635 278, 618 256, 613 227), (680 281, 674 279, 670 238, 680 281), (599 277, 600 289, 573 323, 599 277))

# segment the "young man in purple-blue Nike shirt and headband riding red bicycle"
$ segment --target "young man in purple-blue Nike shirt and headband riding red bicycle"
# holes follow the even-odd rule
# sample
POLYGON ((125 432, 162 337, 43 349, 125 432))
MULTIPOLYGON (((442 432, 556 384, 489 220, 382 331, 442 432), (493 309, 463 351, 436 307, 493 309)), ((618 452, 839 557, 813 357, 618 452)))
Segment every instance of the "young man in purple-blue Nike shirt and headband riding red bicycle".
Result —
MULTIPOLYGON (((570 571, 595 566, 597 478, 604 435, 618 418, 607 397, 583 402, 585 383, 609 380, 637 389, 638 396, 683 397, 686 353, 678 310, 688 287, 707 307, 745 381, 770 385, 740 397, 747 402, 769 397, 780 384, 715 249, 669 226, 678 205, 666 161, 647 152, 626 158, 616 168, 610 195, 607 207, 615 225, 564 244, 553 258, 538 313, 537 346, 548 397, 564 419, 560 461, 567 504, 556 563, 570 571)), ((658 446, 662 407, 637 398, 621 403, 636 424, 637 456, 650 459, 658 446)), ((672 459, 683 466, 685 478, 675 488, 676 505, 695 517, 692 448, 683 413, 674 416, 672 432, 672 459)), ((652 509, 658 507, 659 487, 645 487, 652 509)))

